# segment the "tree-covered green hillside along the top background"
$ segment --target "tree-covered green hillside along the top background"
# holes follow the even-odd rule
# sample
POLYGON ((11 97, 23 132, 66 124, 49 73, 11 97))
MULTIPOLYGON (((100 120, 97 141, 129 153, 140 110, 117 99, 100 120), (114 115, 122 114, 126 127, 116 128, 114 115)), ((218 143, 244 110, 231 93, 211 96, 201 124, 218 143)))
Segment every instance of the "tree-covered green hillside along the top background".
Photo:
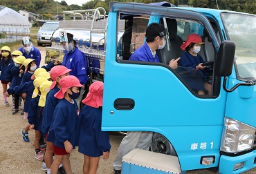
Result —
MULTIPOLYGON (((65 10, 81 10, 81 9, 91 9, 103 7, 107 12, 109 10, 110 0, 91 0, 81 6, 71 5, 68 6, 66 1, 61 1, 58 3, 53 0, 0 0, 0 4, 12 8, 16 11, 26 10, 28 12, 34 12, 35 14, 42 14, 44 19, 51 19, 51 17, 56 16, 57 10, 58 14, 62 14, 65 10)), ((121 2, 138 2, 138 3, 152 3, 160 2, 159 0, 112 0, 121 2)), ((199 8, 219 8, 223 10, 234 10, 239 12, 248 12, 256 14, 256 2, 255 0, 162 0, 168 1, 175 6, 188 5, 199 8)), ((40 16, 40 19, 42 19, 40 16)))

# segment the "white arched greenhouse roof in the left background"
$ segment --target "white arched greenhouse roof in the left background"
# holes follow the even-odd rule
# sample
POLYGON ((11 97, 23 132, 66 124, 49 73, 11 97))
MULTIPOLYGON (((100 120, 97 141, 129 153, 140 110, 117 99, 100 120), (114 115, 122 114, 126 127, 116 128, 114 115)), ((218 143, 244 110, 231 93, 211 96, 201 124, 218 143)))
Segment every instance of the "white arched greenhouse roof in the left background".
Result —
POLYGON ((30 26, 30 23, 21 14, 0 5, 0 26, 30 26))

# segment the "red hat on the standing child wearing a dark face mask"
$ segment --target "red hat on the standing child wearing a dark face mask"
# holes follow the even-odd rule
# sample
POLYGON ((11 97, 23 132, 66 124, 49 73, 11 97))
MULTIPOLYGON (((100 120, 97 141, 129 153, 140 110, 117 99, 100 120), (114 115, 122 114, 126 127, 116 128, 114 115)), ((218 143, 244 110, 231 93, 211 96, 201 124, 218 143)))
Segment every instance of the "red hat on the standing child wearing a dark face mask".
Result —
POLYGON ((57 99, 63 99, 64 94, 66 93, 66 90, 71 87, 82 87, 82 84, 80 84, 79 79, 73 75, 68 75, 65 77, 62 77, 60 79, 60 86, 62 88, 54 95, 57 99))

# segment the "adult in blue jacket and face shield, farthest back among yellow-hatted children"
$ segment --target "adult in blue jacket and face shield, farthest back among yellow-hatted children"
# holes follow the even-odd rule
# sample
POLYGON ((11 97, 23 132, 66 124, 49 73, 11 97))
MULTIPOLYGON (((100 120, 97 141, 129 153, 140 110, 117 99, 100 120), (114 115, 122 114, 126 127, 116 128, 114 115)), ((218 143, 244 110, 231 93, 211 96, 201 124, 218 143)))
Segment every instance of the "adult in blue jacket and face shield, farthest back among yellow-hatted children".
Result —
POLYGON ((41 52, 37 48, 35 48, 35 46, 33 46, 31 41, 28 44, 24 44, 24 41, 22 40, 22 45, 23 46, 19 48, 19 51, 22 52, 22 55, 26 57, 26 59, 35 59, 35 64, 37 65, 37 67, 39 67, 41 61, 41 52))

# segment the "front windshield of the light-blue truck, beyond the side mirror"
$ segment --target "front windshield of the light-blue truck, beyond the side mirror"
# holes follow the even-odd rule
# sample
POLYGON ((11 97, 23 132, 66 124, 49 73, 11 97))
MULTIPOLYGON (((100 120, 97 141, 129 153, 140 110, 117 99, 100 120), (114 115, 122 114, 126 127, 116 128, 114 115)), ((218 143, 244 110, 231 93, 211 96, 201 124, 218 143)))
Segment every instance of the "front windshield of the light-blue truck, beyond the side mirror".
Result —
POLYGON ((221 18, 231 41, 235 41, 238 79, 256 80, 256 16, 222 12, 221 18))

